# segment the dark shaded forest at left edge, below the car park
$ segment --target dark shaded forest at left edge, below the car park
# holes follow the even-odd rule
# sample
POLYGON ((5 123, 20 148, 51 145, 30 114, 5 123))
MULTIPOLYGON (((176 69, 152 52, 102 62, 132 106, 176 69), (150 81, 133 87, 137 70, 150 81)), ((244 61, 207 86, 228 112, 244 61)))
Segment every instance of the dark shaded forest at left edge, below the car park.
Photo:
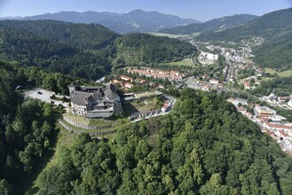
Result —
POLYGON ((13 66, 0 62, 0 74, 0 194, 18 194, 21 179, 49 152, 59 112, 15 91, 23 77, 13 66))

